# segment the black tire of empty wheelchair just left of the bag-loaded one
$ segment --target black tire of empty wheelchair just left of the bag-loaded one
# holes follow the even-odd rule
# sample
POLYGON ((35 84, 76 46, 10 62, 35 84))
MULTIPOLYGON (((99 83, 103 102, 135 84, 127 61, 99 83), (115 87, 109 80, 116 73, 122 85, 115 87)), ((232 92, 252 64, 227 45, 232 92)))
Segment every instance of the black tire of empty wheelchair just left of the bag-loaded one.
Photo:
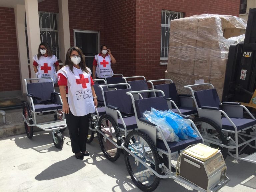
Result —
MULTIPOLYGON (((98 131, 102 132, 102 130, 101 130, 102 121, 105 120, 105 119, 108 120, 112 124, 111 127, 113 127, 113 129, 115 131, 114 134, 115 134, 115 137, 116 137, 116 143, 117 143, 117 145, 121 146, 121 140, 118 139, 118 138, 120 138, 119 129, 116 125, 116 122, 114 121, 114 119, 110 115, 104 114, 100 117, 98 127, 97 127, 98 131)), ((97 133, 97 134, 98 134, 98 139, 99 139, 99 143, 100 143, 100 148, 101 148, 103 154, 105 155, 105 157, 110 161, 116 161, 120 156, 121 149, 117 148, 117 147, 115 147, 116 150, 114 148, 110 149, 110 150, 106 149, 106 147, 104 146, 104 143, 107 143, 107 142, 110 143, 110 141, 106 140, 106 142, 105 142, 104 137, 100 133, 97 133), (108 151, 111 152, 112 155, 110 155, 110 153, 108 151)), ((105 135, 106 134, 107 133, 105 133, 105 135)), ((110 143, 110 144, 111 144, 110 146, 113 146, 112 143, 110 143)))

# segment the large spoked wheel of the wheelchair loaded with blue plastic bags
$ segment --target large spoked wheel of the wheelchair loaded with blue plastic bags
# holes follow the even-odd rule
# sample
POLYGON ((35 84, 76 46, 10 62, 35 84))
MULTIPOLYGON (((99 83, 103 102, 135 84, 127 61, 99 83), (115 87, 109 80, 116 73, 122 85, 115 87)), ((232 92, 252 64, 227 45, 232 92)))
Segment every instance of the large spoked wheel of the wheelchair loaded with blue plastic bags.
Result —
POLYGON ((146 133, 134 130, 127 135, 124 146, 137 156, 134 158, 124 151, 125 165, 133 182, 142 191, 154 191, 160 183, 160 178, 136 159, 141 159, 160 174, 160 161, 155 144, 146 133))

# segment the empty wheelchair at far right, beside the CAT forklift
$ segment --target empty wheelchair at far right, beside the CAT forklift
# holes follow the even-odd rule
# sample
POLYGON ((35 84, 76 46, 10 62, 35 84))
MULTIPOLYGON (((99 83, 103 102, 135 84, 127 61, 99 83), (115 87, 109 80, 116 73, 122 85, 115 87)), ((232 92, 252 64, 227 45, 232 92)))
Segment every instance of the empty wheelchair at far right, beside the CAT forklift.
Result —
POLYGON ((222 155, 256 163, 256 152, 241 157, 246 147, 256 149, 251 142, 256 135, 247 131, 256 127, 256 119, 249 110, 236 102, 220 102, 216 89, 212 84, 202 83, 184 86, 190 89, 199 117, 193 119, 197 129, 211 147, 220 148, 222 155), (210 89, 207 89, 207 86, 210 89), (205 88, 206 87, 206 88, 205 88), (197 89, 197 90, 195 90, 197 89), (246 112, 251 118, 244 118, 246 112))

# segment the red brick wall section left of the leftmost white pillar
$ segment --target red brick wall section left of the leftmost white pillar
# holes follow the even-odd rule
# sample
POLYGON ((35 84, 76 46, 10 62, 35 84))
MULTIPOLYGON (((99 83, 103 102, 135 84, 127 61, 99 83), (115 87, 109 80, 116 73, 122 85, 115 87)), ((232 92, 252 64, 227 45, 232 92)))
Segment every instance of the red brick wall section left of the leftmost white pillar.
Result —
POLYGON ((0 7, 0 92, 20 90, 20 69, 13 8, 0 7))

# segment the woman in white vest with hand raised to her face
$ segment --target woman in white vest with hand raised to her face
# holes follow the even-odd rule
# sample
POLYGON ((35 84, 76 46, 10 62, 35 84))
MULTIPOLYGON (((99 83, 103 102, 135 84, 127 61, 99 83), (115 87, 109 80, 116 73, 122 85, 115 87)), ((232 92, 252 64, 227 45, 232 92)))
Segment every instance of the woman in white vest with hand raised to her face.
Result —
MULTIPOLYGON (((93 79, 105 79, 104 75, 113 74, 111 64, 115 64, 116 59, 111 54, 110 49, 107 49, 105 45, 100 47, 100 53, 94 56, 92 67, 93 79)), ((108 76, 112 77, 112 76, 108 76)))

